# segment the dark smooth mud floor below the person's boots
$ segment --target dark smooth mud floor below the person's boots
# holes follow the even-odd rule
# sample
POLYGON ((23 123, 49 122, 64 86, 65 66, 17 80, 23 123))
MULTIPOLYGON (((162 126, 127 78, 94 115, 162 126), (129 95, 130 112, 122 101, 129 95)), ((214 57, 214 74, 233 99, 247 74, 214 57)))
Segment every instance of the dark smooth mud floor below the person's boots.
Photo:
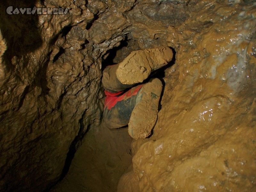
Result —
POLYGON ((128 127, 89 129, 65 178, 50 192, 116 192, 120 177, 132 164, 128 127))

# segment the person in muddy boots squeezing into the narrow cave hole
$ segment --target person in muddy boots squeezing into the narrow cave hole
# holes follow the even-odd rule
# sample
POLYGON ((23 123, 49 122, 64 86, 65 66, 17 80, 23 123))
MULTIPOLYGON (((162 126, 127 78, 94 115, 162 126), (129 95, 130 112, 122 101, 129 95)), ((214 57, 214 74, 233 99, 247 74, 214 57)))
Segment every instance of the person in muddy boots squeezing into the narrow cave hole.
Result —
POLYGON ((121 63, 103 70, 103 121, 108 128, 128 125, 128 133, 134 139, 145 139, 151 134, 163 85, 158 78, 148 77, 172 57, 169 47, 133 51, 121 63), (142 83, 144 80, 148 81, 142 83))

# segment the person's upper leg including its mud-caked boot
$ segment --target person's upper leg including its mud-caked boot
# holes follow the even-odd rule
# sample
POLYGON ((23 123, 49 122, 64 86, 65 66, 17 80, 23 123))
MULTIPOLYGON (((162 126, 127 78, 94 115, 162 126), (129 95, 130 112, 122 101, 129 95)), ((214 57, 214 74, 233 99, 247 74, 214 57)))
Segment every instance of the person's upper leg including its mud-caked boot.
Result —
POLYGON ((121 63, 104 69, 102 84, 109 92, 123 91, 142 83, 151 72, 167 65, 172 57, 169 47, 133 51, 121 63))

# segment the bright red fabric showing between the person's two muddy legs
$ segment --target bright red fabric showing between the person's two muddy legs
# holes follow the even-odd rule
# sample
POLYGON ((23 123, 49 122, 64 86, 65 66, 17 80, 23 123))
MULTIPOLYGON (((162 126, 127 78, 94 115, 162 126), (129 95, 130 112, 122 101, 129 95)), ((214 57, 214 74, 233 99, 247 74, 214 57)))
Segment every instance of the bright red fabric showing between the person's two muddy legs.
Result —
POLYGON ((141 87, 142 87, 142 84, 137 85, 136 87, 132 87, 127 92, 119 91, 116 93, 111 93, 111 92, 108 92, 105 90, 106 99, 105 99, 104 108, 107 108, 109 110, 112 107, 114 107, 118 101, 130 98, 134 95, 137 95, 137 93, 140 91, 141 87), (122 94, 122 92, 123 92, 123 94, 122 94))

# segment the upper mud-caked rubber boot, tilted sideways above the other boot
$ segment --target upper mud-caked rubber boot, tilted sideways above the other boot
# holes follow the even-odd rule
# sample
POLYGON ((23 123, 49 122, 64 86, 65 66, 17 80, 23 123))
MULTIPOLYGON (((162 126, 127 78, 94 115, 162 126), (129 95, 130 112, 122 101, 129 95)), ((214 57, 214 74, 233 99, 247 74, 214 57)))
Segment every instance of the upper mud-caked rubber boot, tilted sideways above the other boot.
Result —
POLYGON ((169 47, 133 51, 116 69, 117 79, 122 84, 141 83, 152 71, 167 65, 172 56, 169 47))

